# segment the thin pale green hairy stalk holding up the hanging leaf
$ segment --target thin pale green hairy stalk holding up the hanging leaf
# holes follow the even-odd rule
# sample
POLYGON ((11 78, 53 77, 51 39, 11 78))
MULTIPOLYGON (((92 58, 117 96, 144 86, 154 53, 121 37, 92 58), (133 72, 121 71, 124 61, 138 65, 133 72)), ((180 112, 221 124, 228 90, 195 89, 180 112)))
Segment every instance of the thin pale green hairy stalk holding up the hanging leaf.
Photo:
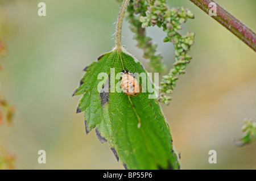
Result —
POLYGON ((117 19, 117 28, 115 30, 115 49, 121 50, 122 48, 122 43, 121 43, 121 38, 122 38, 122 25, 123 25, 123 18, 125 16, 126 9, 129 5, 130 0, 123 0, 118 19, 117 19))

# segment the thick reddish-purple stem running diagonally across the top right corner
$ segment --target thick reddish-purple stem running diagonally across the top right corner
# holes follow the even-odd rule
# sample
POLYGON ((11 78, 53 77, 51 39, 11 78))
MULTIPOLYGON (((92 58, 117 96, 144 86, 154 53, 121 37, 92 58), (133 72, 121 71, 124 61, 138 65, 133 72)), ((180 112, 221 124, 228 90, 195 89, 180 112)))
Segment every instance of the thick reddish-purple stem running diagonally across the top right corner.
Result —
MULTIPOLYGON (((189 0, 201 10, 208 13, 209 3, 216 3, 212 0, 189 0)), ((246 43, 256 52, 256 34, 246 27, 245 24, 236 19, 232 14, 216 3, 217 16, 212 16, 217 22, 226 27, 230 32, 236 35, 240 40, 246 43)))

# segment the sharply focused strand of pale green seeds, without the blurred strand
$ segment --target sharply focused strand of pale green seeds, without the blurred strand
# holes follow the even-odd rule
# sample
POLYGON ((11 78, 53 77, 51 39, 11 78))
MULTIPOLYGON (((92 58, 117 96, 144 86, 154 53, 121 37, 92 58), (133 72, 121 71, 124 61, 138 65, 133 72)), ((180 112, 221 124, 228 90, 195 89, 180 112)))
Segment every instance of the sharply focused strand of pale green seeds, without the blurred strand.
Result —
POLYGON ((164 75, 159 87, 159 101, 168 104, 171 100, 171 94, 178 79, 177 75, 184 74, 185 68, 192 57, 187 54, 191 45, 194 44, 195 33, 187 32, 180 35, 179 30, 183 27, 187 19, 194 18, 192 12, 188 9, 174 8, 167 6, 166 0, 151 1, 147 7, 146 16, 141 16, 142 27, 158 26, 162 27, 167 36, 164 42, 172 42, 175 48, 175 62, 168 75, 164 75))

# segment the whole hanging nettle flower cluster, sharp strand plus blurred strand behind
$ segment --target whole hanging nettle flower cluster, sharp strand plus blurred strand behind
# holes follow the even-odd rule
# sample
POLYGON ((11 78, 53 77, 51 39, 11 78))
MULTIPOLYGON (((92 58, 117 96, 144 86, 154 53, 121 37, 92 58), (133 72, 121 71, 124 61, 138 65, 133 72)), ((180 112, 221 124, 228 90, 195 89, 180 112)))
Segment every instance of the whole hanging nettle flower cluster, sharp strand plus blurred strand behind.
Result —
POLYGON ((171 94, 176 85, 178 75, 185 73, 185 68, 192 57, 187 54, 194 43, 195 33, 187 32, 185 35, 179 33, 183 29, 181 26, 187 19, 193 19, 194 15, 184 7, 170 8, 166 0, 146 1, 131 0, 128 7, 127 18, 131 24, 131 31, 135 33, 134 39, 138 41, 137 46, 144 51, 144 58, 150 59, 150 65, 154 71, 163 71, 162 56, 156 53, 157 45, 152 43, 152 39, 146 36, 146 27, 158 26, 167 33, 164 42, 171 42, 175 48, 175 62, 170 73, 163 76, 159 87, 159 98, 161 103, 168 104, 171 94))

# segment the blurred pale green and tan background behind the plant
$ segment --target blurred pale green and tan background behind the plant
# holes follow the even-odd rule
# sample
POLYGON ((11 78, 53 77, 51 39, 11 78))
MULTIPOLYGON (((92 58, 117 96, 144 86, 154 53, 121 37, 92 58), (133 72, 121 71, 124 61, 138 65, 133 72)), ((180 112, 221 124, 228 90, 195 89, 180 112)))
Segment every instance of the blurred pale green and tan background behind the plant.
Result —
MULTIPOLYGON (((237 148, 243 119, 256 119, 256 54, 188 0, 168 1, 188 7, 196 18, 185 30, 196 33, 193 57, 180 77, 169 106, 162 106, 171 126, 181 169, 256 169, 256 144, 237 148), (217 164, 209 164, 209 150, 217 164)), ((217 1, 256 31, 255 0, 217 1)), ((14 123, 0 127, 0 142, 16 155, 16 169, 123 169, 107 143, 94 131, 87 136, 79 96, 72 97, 82 69, 114 45, 113 24, 119 4, 114 0, 2 1, 2 39, 7 56, 0 60, 1 91, 16 107, 14 123), (38 16, 45 2, 47 16, 38 16), (38 150, 47 163, 38 163, 38 150)), ((150 71, 135 47, 127 22, 125 48, 150 71)), ((164 55, 166 70, 174 62, 172 44, 163 43, 159 28, 148 34, 164 55)), ((167 73, 166 71, 166 73, 167 73)))

